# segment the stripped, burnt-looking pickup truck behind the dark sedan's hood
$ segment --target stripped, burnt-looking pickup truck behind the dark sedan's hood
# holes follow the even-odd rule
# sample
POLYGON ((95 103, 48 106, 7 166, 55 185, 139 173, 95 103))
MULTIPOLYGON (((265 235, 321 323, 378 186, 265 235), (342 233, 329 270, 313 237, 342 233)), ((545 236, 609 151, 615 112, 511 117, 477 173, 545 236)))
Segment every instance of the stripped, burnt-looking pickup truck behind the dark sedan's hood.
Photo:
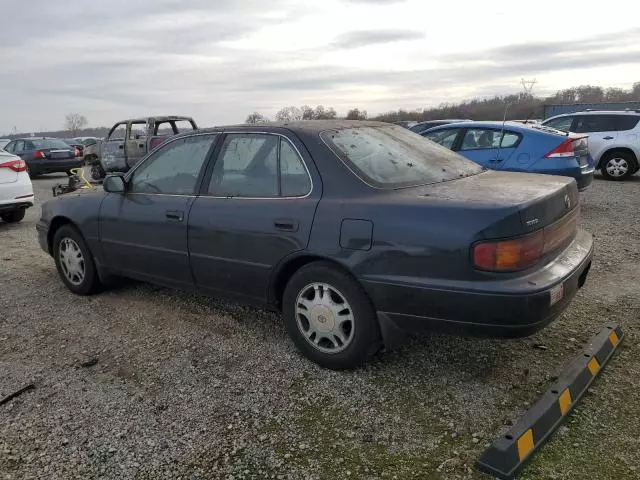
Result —
POLYGON ((197 128, 193 118, 175 115, 118 122, 100 144, 100 153, 87 159, 91 178, 101 180, 110 172, 126 172, 167 138, 197 128))

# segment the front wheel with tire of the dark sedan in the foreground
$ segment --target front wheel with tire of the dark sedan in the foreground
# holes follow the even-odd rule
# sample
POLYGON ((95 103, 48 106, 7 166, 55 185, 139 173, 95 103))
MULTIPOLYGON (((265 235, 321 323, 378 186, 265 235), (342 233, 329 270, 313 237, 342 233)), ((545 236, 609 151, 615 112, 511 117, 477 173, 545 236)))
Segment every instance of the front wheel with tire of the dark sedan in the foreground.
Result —
POLYGON ((73 293, 89 295, 100 288, 93 255, 74 227, 64 225, 56 231, 53 254, 60 278, 73 293))

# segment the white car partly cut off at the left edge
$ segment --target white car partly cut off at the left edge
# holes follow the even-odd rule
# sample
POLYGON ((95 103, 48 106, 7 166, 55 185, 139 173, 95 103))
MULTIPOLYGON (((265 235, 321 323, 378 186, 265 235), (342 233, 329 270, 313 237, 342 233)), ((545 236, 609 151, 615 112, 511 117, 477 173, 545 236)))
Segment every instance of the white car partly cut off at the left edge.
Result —
POLYGON ((0 218, 7 223, 19 222, 27 208, 33 207, 33 199, 25 161, 0 150, 0 218))

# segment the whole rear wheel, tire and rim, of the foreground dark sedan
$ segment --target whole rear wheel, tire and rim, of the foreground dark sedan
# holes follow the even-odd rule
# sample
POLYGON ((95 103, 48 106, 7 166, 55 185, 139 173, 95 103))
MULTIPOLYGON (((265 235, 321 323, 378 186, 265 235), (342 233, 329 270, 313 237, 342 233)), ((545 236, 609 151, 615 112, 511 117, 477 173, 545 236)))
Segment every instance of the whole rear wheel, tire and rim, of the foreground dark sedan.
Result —
POLYGON ((283 314, 298 350, 322 367, 355 368, 380 348, 369 297, 353 277, 330 263, 311 263, 291 277, 283 314))

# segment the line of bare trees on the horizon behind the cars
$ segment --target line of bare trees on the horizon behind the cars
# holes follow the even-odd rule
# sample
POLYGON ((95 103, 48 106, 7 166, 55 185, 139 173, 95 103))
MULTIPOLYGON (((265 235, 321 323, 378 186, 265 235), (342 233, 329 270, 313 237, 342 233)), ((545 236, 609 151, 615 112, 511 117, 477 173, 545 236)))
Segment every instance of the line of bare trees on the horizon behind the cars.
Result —
MULTIPOLYGON (((368 117, 366 110, 352 108, 345 117, 338 117, 333 107, 318 105, 315 109, 302 107, 284 107, 276 113, 275 121, 290 122, 296 120, 326 120, 345 118, 347 120, 378 120, 397 122, 400 120, 437 120, 442 118, 464 118, 470 120, 524 120, 542 118, 544 105, 575 103, 624 103, 640 102, 640 82, 625 90, 623 88, 603 88, 592 85, 559 90, 547 97, 527 93, 514 95, 496 95, 491 98, 473 99, 460 103, 441 103, 437 107, 416 110, 393 110, 368 117)), ((245 123, 255 124, 270 121, 259 112, 251 113, 245 123)))

